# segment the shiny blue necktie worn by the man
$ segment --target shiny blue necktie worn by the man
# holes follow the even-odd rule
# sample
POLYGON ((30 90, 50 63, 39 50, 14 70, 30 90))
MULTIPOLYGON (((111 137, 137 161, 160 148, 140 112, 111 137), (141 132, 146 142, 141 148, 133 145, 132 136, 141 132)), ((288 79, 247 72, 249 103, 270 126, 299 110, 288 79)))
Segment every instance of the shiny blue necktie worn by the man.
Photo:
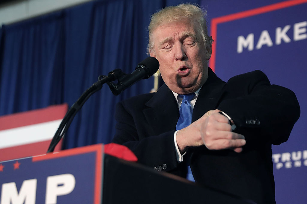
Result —
MULTIPOLYGON (((178 96, 182 98, 182 103, 179 110, 180 117, 177 122, 176 130, 181 130, 185 127, 188 127, 192 122, 193 109, 190 104, 190 101, 194 98, 195 93, 189 93, 186 95, 178 95, 178 96)), ((188 166, 187 179, 195 182, 190 166, 188 166)))

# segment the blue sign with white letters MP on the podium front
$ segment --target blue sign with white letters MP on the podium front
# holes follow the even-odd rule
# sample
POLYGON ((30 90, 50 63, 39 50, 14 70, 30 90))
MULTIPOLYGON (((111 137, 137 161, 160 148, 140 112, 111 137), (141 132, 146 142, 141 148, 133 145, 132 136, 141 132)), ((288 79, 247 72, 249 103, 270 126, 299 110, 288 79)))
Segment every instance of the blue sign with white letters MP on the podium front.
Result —
POLYGON ((103 145, 0 162, 0 204, 100 204, 103 145))

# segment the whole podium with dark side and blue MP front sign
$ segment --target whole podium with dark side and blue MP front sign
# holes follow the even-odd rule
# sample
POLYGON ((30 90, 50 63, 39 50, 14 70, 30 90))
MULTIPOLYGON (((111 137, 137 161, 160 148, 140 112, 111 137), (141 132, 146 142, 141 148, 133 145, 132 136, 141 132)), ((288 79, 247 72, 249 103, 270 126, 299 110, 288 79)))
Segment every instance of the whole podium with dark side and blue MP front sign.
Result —
POLYGON ((0 203, 254 203, 103 152, 97 144, 0 162, 0 203))

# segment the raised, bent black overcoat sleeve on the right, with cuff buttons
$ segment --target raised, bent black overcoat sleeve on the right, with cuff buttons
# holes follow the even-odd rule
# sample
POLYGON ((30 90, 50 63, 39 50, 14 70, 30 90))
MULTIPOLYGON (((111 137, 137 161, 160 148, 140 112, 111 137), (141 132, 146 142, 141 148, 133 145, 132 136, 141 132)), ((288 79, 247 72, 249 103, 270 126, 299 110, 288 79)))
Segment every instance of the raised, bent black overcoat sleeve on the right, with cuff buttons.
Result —
POLYGON ((291 90, 271 85, 266 75, 256 70, 232 77, 225 93, 217 109, 233 119, 235 131, 248 137, 247 141, 279 145, 288 140, 300 115, 291 90))

